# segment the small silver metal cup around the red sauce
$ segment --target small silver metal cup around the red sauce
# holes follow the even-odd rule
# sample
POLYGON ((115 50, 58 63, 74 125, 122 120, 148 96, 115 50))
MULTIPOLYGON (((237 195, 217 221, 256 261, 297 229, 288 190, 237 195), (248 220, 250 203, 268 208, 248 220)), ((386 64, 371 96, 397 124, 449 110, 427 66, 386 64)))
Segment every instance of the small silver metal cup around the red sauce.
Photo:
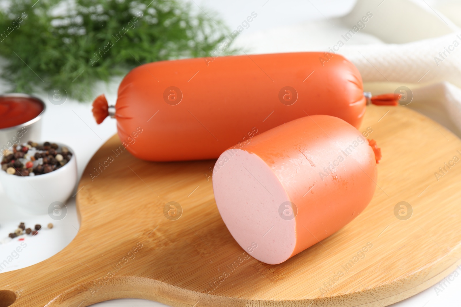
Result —
POLYGON ((7 127, 0 129, 0 159, 3 157, 3 151, 11 148, 13 145, 26 143, 28 140, 35 142, 41 140, 41 117, 45 112, 45 103, 37 97, 27 94, 11 93, 0 95, 0 98, 21 97, 35 100, 43 106, 41 113, 28 122, 24 122, 18 126, 7 127))

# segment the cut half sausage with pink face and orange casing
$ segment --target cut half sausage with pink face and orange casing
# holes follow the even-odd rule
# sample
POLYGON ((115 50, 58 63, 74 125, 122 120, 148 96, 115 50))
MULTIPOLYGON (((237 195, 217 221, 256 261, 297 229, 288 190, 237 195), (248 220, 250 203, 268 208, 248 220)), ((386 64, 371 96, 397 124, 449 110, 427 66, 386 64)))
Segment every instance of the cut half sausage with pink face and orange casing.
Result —
POLYGON ((213 191, 237 243, 278 264, 360 214, 376 179, 376 157, 363 135, 342 119, 314 115, 223 152, 213 191))

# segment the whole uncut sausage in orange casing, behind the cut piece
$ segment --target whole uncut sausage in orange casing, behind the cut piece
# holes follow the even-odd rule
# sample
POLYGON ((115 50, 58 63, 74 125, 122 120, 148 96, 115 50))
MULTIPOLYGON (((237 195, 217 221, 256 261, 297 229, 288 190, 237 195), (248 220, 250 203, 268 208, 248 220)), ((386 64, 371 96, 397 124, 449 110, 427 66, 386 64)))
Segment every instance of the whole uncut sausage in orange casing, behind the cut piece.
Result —
MULTIPOLYGON (((120 140, 144 160, 197 160, 306 115, 337 116, 359 127, 366 109, 359 71, 341 55, 320 57, 297 52, 141 65, 118 88, 112 116, 120 140)), ((104 96, 94 105, 102 122, 104 96)))

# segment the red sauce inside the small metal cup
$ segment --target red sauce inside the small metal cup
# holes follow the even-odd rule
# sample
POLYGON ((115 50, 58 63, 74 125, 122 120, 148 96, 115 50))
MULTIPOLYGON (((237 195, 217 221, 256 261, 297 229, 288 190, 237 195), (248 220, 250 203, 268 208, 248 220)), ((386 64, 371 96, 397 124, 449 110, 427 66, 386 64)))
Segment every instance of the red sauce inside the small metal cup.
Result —
POLYGON ((0 129, 29 122, 43 111, 43 105, 34 98, 0 97, 0 129))

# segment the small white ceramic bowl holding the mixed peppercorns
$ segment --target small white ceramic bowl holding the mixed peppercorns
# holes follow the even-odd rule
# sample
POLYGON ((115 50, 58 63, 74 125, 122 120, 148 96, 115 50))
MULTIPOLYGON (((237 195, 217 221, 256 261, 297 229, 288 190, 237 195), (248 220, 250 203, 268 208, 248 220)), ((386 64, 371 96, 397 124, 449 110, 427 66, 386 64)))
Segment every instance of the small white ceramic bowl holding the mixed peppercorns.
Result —
MULTIPOLYGON (((65 203, 77 183, 77 160, 71 160, 57 170, 35 176, 17 176, 0 170, 0 182, 6 196, 33 214, 46 214, 54 202, 65 203)), ((53 208, 54 209, 54 208, 53 208)))

